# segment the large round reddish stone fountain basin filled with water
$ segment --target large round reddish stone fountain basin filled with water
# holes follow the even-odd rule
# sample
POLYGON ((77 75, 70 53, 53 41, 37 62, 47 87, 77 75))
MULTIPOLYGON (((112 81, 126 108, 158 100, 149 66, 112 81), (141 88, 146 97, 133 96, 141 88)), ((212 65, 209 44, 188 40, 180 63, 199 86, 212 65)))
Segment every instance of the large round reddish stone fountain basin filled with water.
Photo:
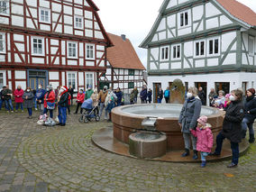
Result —
MULTIPOLYGON (((184 142, 181 128, 178 125, 178 116, 182 105, 151 104, 151 105, 124 105, 112 110, 114 138, 129 143, 129 135, 144 129, 142 121, 146 117, 157 117, 155 128, 167 136, 167 150, 183 150, 184 142)), ((208 117, 212 125, 212 133, 217 135, 222 129, 224 112, 218 109, 202 106, 201 115, 208 117)))

